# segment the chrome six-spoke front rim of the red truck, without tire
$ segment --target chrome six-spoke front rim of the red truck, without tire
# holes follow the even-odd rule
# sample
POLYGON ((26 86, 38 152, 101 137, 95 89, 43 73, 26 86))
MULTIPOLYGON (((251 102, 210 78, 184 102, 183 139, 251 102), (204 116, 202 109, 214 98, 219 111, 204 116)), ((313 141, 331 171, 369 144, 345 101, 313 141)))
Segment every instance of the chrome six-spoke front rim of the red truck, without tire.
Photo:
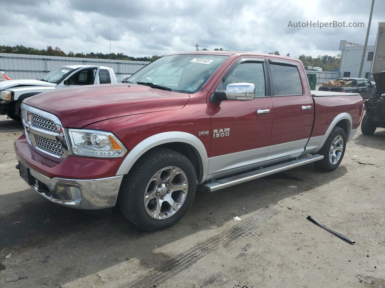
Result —
POLYGON ((182 169, 170 166, 156 172, 148 182, 143 203, 148 215, 163 220, 183 205, 188 192, 187 176, 182 169))

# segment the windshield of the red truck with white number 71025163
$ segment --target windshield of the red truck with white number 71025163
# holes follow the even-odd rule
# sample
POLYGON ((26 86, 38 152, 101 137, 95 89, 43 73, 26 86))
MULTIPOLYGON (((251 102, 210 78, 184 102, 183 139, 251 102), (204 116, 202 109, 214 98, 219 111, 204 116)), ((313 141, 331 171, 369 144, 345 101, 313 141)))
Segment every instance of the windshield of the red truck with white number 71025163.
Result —
POLYGON ((228 56, 222 55, 170 55, 151 62, 127 82, 153 83, 172 91, 196 93, 228 56))

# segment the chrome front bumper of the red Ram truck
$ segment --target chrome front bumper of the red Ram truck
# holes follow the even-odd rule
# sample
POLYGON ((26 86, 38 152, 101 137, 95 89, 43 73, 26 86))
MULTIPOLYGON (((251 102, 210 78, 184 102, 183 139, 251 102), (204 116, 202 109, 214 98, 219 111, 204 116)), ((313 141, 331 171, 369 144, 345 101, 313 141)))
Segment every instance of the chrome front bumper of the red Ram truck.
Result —
POLYGON ((33 190, 45 199, 75 209, 114 207, 123 178, 122 175, 90 180, 48 178, 29 167, 28 169, 35 179, 35 184, 30 185, 27 182, 33 190))

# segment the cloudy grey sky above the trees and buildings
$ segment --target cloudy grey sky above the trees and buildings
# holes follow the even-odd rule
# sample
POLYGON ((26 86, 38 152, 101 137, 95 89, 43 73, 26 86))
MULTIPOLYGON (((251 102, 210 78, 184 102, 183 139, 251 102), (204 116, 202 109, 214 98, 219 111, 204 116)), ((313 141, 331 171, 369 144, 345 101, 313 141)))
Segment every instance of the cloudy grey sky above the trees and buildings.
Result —
MULTIPOLYGON (((336 55, 363 44, 372 0, 0 0, 0 45, 64 52, 164 55, 199 48, 290 56, 336 55), (364 22, 364 28, 292 28, 291 22, 364 22)), ((368 45, 385 1, 376 0, 368 45)))

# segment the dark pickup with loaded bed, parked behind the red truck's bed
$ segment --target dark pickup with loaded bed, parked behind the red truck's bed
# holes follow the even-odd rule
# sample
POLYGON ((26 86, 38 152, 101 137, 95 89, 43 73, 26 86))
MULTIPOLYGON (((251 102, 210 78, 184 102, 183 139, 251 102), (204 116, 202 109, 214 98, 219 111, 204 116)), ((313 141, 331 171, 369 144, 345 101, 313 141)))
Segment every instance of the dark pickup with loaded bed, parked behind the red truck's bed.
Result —
POLYGON ((369 99, 376 94, 376 86, 373 85, 366 78, 337 78, 337 80, 343 81, 352 81, 352 85, 350 87, 325 87, 320 86, 318 90, 320 91, 331 91, 331 92, 347 92, 347 93, 360 93, 362 99, 369 99))

